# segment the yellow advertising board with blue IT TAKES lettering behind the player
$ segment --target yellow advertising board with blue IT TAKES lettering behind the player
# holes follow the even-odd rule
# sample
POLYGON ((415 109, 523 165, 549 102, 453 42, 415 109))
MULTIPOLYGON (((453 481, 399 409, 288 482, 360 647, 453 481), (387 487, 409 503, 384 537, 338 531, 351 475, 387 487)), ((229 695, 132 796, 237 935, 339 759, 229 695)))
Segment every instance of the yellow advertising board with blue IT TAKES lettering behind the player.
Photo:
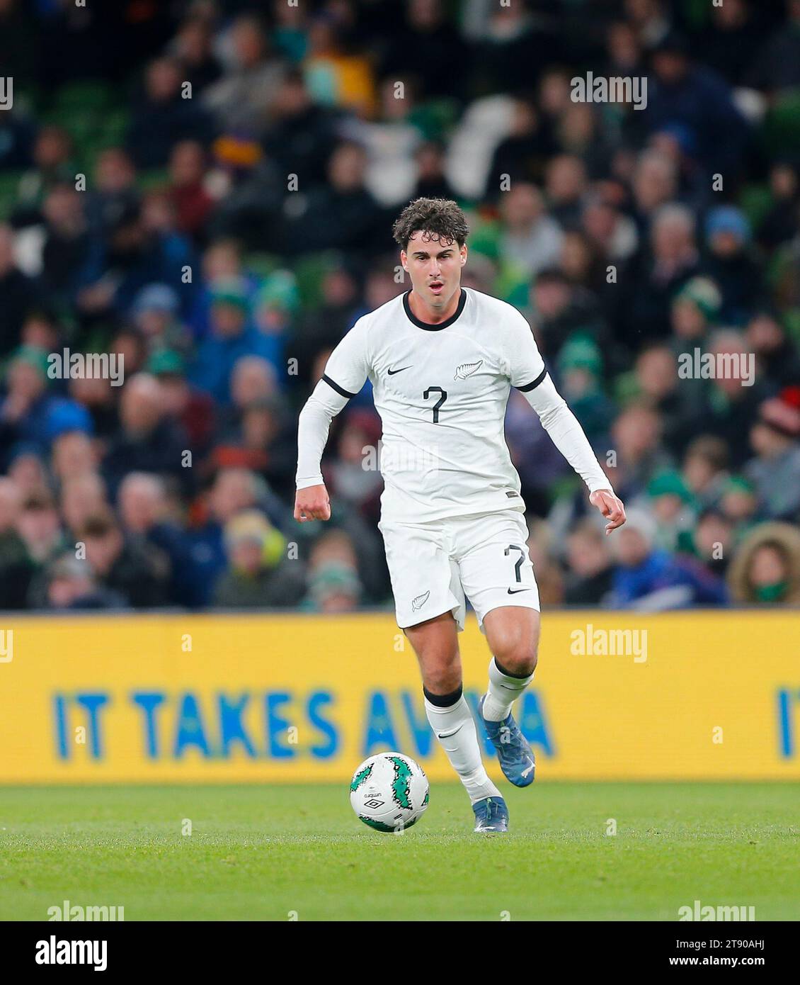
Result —
MULTIPOLYGON (((453 777, 390 614, 7 614, 0 642, 0 783, 342 781, 390 749, 453 777)), ((460 643, 476 707, 473 616, 460 643)), ((537 781, 798 779, 800 612, 546 613, 516 713, 537 781)))

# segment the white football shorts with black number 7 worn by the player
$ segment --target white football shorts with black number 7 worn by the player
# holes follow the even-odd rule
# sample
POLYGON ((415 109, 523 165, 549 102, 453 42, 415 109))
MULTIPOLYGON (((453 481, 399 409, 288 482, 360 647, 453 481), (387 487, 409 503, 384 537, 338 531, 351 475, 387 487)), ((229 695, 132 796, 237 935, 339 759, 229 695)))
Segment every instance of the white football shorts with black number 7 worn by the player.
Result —
POLYGON ((539 610, 539 590, 528 556, 527 526, 516 509, 450 516, 378 529, 386 545, 398 625, 452 612, 461 632, 466 599, 483 618, 501 606, 539 610))

